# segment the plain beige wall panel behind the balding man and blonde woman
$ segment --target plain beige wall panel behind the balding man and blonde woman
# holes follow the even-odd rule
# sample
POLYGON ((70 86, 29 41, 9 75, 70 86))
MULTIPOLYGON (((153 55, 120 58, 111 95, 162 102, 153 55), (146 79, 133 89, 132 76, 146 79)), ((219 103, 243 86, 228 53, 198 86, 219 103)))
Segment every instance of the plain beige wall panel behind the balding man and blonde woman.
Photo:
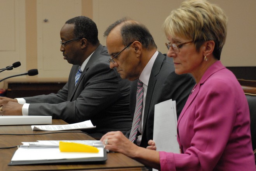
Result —
MULTIPOLYGON (((209 0, 218 4, 228 16, 228 35, 221 61, 225 66, 256 66, 256 0, 209 0)), ((93 0, 93 19, 99 39, 104 29, 117 19, 129 16, 151 31, 158 50, 166 53, 167 41, 162 23, 183 0, 93 0)))

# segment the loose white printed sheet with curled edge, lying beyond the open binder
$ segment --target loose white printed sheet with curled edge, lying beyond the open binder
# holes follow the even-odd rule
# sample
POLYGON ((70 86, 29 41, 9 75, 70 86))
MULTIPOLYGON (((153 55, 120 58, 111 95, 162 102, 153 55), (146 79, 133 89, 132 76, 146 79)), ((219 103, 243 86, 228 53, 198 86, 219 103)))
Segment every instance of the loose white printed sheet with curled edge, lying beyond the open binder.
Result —
POLYGON ((88 120, 80 123, 66 125, 31 125, 31 128, 34 131, 63 131, 91 129, 96 128, 96 126, 93 126, 91 120, 88 120))

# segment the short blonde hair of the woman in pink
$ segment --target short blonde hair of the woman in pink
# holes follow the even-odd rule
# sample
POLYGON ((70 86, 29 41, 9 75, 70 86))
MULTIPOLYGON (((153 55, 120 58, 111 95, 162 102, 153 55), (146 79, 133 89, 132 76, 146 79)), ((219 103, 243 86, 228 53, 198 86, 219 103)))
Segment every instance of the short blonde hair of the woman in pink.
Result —
POLYGON ((164 31, 166 36, 193 40, 198 51, 202 43, 213 40, 213 55, 219 60, 226 41, 227 21, 217 5, 206 0, 187 0, 165 19, 164 31))

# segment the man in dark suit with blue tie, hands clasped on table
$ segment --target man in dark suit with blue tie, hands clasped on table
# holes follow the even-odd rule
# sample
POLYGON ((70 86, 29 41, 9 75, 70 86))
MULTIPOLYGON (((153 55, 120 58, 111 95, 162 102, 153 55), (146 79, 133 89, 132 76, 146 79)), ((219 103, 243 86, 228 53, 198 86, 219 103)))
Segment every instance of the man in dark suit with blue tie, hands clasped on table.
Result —
POLYGON ((73 64, 68 83, 56 94, 4 98, 0 101, 1 114, 52 116, 70 124, 91 120, 96 128, 86 132, 95 138, 108 131, 129 130, 130 81, 110 69, 109 55, 99 43, 96 24, 88 17, 75 17, 66 21, 60 36, 64 59, 73 64), (8 100, 13 102, 6 103, 8 100), (14 103, 17 100, 26 104, 14 103))

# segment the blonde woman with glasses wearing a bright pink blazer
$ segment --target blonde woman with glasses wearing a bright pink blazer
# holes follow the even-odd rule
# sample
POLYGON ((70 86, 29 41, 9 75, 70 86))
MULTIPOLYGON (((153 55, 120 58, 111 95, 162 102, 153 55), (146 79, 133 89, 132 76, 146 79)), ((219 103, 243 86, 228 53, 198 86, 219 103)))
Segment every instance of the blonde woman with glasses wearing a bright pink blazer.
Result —
POLYGON ((120 132, 101 140, 106 149, 121 152, 161 171, 256 171, 250 135, 249 107, 231 71, 220 62, 227 17, 205 0, 188 0, 164 23, 175 73, 191 73, 196 85, 178 119, 181 154, 138 147, 120 132))

